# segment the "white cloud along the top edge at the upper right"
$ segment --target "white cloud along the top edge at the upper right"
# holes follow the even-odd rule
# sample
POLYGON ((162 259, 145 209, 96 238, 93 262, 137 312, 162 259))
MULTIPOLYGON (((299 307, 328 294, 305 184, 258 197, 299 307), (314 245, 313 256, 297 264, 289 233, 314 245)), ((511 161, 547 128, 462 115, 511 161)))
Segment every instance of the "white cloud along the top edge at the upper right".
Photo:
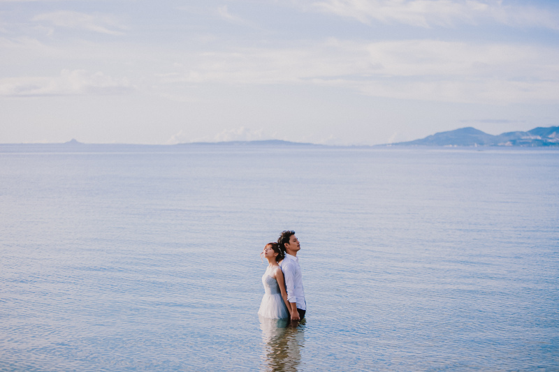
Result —
POLYGON ((558 14, 534 6, 503 5, 502 1, 477 0, 319 0, 301 1, 307 9, 372 21, 398 22, 415 27, 453 27, 491 20, 521 27, 559 29, 558 14))

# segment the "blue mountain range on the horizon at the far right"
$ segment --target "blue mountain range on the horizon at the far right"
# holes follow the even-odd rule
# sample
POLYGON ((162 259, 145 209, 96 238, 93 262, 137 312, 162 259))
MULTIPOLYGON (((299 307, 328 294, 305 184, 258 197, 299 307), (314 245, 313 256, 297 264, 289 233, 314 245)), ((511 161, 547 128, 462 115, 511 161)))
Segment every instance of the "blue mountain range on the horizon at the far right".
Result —
POLYGON ((435 133, 421 140, 398 142, 392 145, 559 147, 559 126, 538 127, 528 132, 508 132, 500 135, 491 135, 476 128, 467 127, 435 133))

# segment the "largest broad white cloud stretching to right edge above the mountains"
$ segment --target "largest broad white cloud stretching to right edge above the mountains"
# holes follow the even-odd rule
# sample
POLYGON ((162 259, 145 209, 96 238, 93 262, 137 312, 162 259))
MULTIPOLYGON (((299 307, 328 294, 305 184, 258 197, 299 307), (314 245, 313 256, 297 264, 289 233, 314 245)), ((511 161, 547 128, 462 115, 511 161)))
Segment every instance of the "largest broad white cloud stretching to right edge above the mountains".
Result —
POLYGON ((180 70, 161 75, 161 83, 314 84, 429 101, 559 102, 559 51, 539 46, 330 39, 201 53, 180 70))

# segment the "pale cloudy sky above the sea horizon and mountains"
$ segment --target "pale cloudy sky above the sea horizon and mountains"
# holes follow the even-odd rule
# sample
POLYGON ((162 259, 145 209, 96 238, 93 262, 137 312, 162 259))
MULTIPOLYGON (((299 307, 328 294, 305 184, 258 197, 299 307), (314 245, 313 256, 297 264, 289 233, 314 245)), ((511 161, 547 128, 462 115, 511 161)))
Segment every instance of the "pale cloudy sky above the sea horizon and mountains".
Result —
POLYGON ((0 0, 0 143, 559 125, 559 1, 0 0))

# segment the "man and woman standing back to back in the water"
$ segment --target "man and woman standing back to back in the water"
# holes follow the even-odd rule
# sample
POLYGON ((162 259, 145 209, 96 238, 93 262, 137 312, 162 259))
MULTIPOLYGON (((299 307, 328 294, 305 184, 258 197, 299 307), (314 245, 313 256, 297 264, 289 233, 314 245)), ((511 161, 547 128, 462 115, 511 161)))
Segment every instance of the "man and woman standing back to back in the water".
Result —
POLYGON ((268 243, 263 255, 268 268, 262 276, 266 293, 262 298, 258 314, 263 318, 299 321, 305 318, 307 304, 303 291, 303 277, 297 252, 300 244, 292 230, 279 235, 277 243, 268 243))

